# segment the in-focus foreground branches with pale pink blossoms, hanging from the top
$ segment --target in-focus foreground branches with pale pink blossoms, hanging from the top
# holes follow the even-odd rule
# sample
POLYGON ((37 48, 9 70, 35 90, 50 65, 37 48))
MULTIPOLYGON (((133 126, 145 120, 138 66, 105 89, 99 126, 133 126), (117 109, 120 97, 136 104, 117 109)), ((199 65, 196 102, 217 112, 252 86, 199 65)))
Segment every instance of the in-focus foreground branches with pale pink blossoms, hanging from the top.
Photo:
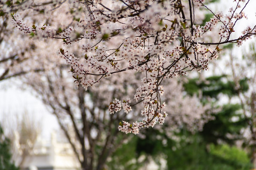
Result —
MULTIPOLYGON (((60 3, 61 2, 56 2, 60 3)), ((121 123, 119 130, 137 134, 142 127, 163 124, 167 113, 161 100, 165 79, 186 75, 192 70, 207 69, 210 60, 218 58, 219 45, 238 43, 256 34, 256 27, 230 40, 234 26, 245 17, 241 1, 229 10, 229 15, 212 13, 205 26, 196 23, 198 8, 212 12, 204 0, 87 0, 69 1, 73 17, 65 27, 35 26, 29 28, 16 15, 13 23, 35 36, 63 41, 59 55, 71 66, 77 85, 87 89, 101 79, 135 70, 144 76, 134 94, 133 105, 142 102, 142 121, 133 125, 121 123), (219 34, 210 42, 211 34, 219 34), (82 53, 69 53, 70 46, 80 46, 82 53)), ((132 110, 129 100, 110 103, 110 113, 132 110)))

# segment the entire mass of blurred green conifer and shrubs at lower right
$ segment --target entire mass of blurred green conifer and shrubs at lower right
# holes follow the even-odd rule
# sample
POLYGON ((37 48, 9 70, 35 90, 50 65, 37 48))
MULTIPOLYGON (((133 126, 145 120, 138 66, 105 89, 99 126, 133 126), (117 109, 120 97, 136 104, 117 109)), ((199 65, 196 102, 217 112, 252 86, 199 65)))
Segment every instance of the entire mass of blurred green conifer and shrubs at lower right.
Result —
POLYGON ((197 95, 203 104, 210 104, 208 111, 214 119, 201 132, 192 134, 182 127, 172 138, 164 131, 148 128, 144 132, 146 137, 137 139, 137 157, 151 156, 156 163, 165 159, 168 170, 249 170, 252 166, 247 153, 234 146, 243 137, 241 129, 247 127, 241 105, 219 102, 223 95, 231 99, 238 91, 248 90, 247 78, 239 83, 240 89, 227 75, 189 79, 184 84, 185 92, 197 95))

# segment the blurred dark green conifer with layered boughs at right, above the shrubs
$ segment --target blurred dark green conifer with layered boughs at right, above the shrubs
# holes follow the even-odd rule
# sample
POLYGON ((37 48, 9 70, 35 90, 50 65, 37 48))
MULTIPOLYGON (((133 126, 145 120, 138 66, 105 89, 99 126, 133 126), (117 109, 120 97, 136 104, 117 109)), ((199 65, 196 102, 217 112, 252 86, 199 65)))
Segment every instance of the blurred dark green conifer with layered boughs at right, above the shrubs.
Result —
POLYGON ((184 84, 184 89, 189 95, 199 96, 201 93, 201 102, 211 103, 213 110, 219 110, 217 114, 211 114, 214 119, 206 123, 200 132, 207 143, 217 144, 218 140, 221 140, 234 144, 236 140, 242 138, 240 131, 247 126, 247 119, 242 114, 241 105, 219 103, 221 95, 227 95, 230 99, 239 92, 244 93, 249 89, 247 78, 239 80, 239 84, 238 89, 226 75, 210 76, 205 80, 193 78, 184 84))

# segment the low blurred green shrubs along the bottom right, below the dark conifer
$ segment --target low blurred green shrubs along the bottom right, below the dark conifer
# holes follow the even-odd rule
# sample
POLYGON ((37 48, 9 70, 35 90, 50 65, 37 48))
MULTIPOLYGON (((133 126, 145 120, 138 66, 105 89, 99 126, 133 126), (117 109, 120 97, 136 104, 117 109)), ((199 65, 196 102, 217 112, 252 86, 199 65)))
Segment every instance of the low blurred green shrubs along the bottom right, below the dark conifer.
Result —
MULTIPOLYGON (((179 136, 178 141, 167 138, 166 144, 163 144, 163 138, 157 137, 161 136, 160 133, 152 135, 151 130, 147 130, 149 130, 146 133, 147 139, 150 140, 137 140, 137 154, 151 156, 156 163, 159 163, 161 158, 165 159, 167 170, 249 170, 252 168, 247 153, 235 146, 209 144, 199 133, 191 134, 186 130, 175 134, 179 136)), ((159 170, 163 169, 159 168, 159 170)))

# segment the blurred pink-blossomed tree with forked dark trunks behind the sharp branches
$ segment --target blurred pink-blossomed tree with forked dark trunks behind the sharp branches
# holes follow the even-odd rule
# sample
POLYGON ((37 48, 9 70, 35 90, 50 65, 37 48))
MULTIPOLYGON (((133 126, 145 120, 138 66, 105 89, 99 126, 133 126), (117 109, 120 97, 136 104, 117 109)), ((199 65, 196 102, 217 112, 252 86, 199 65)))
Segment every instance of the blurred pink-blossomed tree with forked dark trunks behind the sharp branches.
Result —
MULTIPOLYGON (((59 14, 63 14, 64 6, 61 7, 49 11, 51 15, 48 17, 45 14, 31 17, 29 10, 23 10, 19 15, 20 17, 22 15, 27 23, 33 24, 34 20, 38 20, 42 23, 47 21, 54 24, 62 21, 59 14)), ((72 17, 66 18, 67 23, 72 20, 72 17)), ((124 119, 126 121, 141 119, 139 115, 143 102, 134 105, 133 108, 128 103, 134 97, 133 94, 136 93, 143 74, 138 74, 136 70, 120 72, 120 75, 102 78, 101 84, 95 84, 87 91, 82 88, 82 85, 79 85, 77 89, 74 87, 72 71, 56 52, 63 42, 59 42, 58 39, 37 38, 36 34, 30 34, 28 37, 24 34, 23 36, 23 42, 20 43, 33 42, 35 50, 28 51, 30 53, 27 55, 30 58, 27 59, 27 65, 20 67, 40 66, 43 71, 28 72, 20 79, 29 89, 32 88, 35 91, 35 94, 48 106, 50 112, 56 116, 82 169, 103 169, 107 158, 120 144, 129 141, 132 137, 119 133, 117 128, 119 123, 124 119), (126 110, 121 110, 119 114, 109 114, 108 106, 115 98, 124 99, 120 106, 126 107, 126 110), (129 114, 126 113, 128 111, 129 114)), ((70 46, 69 50, 75 55, 83 51, 79 45, 70 46)), ((172 135, 172 132, 180 126, 188 126, 191 130, 201 128, 208 120, 201 119, 207 117, 203 115, 207 107, 201 106, 194 97, 184 96, 182 84, 176 78, 164 80, 163 85, 167 86, 166 91, 169 95, 162 100, 169 104, 167 109, 172 110, 167 117, 169 135, 172 135)))

